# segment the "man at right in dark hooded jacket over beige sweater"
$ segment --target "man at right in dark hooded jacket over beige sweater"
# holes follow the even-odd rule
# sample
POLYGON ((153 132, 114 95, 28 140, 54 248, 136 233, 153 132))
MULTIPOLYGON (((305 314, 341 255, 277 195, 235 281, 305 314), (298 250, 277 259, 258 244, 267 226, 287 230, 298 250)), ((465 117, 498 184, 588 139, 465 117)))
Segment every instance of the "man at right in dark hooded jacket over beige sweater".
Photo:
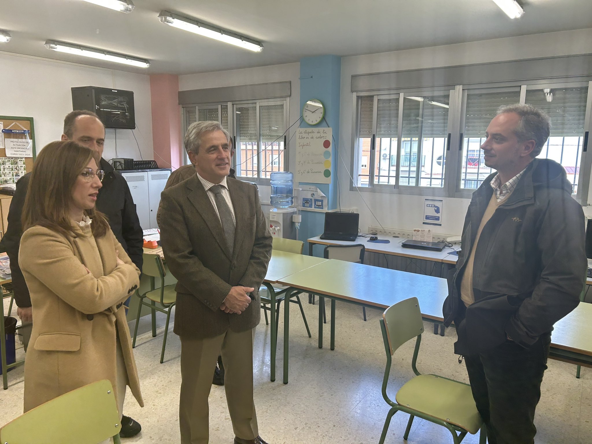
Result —
POLYGON ((472 195, 443 307, 491 444, 534 443, 551 330, 585 283, 582 208, 564 168, 535 159, 549 131, 530 105, 501 107, 491 121, 481 149, 497 173, 472 195))

